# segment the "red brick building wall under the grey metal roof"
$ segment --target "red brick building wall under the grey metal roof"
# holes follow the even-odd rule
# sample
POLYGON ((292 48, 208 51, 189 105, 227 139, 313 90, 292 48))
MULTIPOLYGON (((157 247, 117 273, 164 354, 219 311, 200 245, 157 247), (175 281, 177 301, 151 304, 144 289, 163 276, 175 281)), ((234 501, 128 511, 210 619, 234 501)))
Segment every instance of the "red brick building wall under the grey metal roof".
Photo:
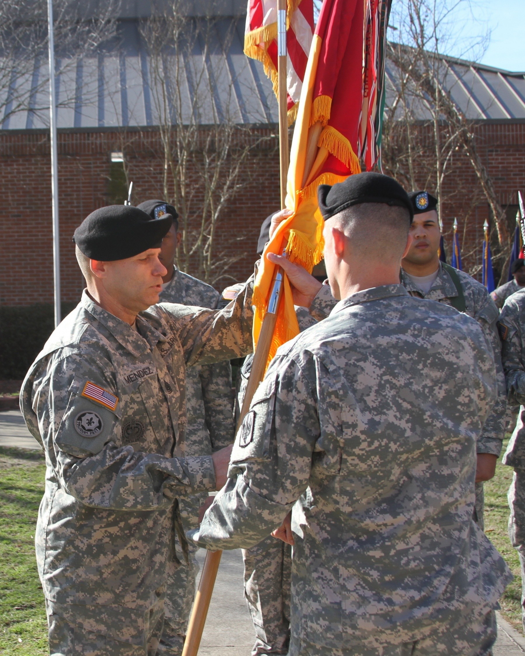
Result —
MULTIPOLYGON (((259 131, 260 133, 264 131, 259 131)), ((423 131, 424 132, 424 131, 423 131)), ((264 146, 253 149, 243 172, 245 185, 225 213, 217 248, 245 253, 228 274, 242 281, 251 273, 255 244, 263 219, 279 207, 279 157, 273 131, 264 146), (242 238, 242 241, 236 241, 242 238)), ((158 133, 137 131, 127 140, 129 178, 135 202, 162 197, 163 158, 158 133)), ((422 133, 421 138, 426 138, 422 133)), ((58 135, 60 195, 60 261, 62 300, 75 302, 83 279, 71 241, 76 226, 97 207, 109 203, 110 153, 122 150, 116 131, 63 131, 58 135)), ((525 121, 483 121, 476 126, 476 143, 494 180, 499 202, 518 203, 525 188, 525 121)), ((489 217, 480 184, 465 155, 458 152, 453 174, 444 183, 444 230, 450 253, 452 222, 460 226, 465 270, 480 264, 482 226, 489 217)), ((418 181, 432 190, 425 176, 418 181)), ((49 136, 40 131, 0 133, 0 304, 53 302, 53 243, 51 225, 51 161, 49 136)), ((191 272, 191 271, 190 271, 191 272)), ((221 288, 228 279, 217 281, 221 288)))

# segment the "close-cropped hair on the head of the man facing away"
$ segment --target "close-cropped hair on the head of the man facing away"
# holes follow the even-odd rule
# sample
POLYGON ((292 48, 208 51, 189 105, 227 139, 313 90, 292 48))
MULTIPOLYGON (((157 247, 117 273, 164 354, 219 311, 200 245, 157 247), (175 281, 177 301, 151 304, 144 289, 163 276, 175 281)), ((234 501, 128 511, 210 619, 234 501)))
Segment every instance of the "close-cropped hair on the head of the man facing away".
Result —
POLYGON ((385 203, 361 203, 333 217, 360 255, 397 260, 403 255, 410 228, 406 207, 385 203))

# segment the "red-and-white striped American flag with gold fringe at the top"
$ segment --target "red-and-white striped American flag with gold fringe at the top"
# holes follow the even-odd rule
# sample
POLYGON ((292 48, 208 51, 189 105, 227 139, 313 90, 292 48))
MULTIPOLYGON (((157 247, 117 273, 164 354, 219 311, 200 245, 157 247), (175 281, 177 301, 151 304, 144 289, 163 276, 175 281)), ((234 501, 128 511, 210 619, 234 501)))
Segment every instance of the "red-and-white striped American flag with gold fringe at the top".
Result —
MULTIPOLYGON (((288 0, 286 20, 288 122, 293 123, 314 33, 313 0, 288 0)), ((244 53, 263 62, 277 96, 277 0, 248 0, 244 53)))

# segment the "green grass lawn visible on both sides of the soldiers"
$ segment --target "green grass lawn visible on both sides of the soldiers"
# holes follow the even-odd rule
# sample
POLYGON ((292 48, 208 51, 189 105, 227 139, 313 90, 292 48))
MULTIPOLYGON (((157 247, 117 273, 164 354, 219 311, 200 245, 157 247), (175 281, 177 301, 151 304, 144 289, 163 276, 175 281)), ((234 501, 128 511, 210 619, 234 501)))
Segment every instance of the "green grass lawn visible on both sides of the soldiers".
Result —
MULTIPOLYGON (((49 653, 34 548, 44 472, 41 452, 0 447, 0 653, 3 656, 49 653)), ((507 491, 512 474, 513 470, 503 466, 500 458, 494 479, 485 483, 485 530, 515 575, 500 600, 501 613, 522 632, 520 567, 507 535, 507 491)))

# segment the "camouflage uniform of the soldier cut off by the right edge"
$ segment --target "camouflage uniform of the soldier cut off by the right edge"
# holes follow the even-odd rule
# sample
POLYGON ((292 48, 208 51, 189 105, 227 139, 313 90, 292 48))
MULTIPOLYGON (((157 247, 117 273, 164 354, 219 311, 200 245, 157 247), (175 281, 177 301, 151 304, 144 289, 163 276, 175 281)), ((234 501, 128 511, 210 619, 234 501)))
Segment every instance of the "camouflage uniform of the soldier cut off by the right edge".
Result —
POLYGON ((499 318, 503 369, 509 403, 519 405, 518 421, 503 464, 514 468, 509 489, 509 535, 518 550, 522 580, 522 621, 525 628, 525 289, 507 298, 499 318))

